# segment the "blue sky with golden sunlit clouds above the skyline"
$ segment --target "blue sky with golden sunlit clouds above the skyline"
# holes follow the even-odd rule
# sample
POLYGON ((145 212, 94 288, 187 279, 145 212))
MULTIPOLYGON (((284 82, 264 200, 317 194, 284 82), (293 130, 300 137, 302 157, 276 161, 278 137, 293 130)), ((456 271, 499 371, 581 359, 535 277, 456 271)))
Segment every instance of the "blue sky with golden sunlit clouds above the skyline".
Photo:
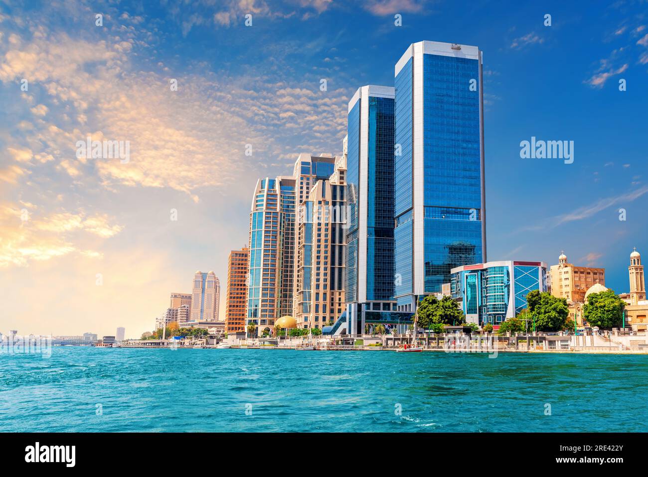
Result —
POLYGON ((355 90, 393 86, 422 40, 483 51, 488 259, 564 251, 628 291, 648 253, 646 1, 0 0, 0 332, 139 337, 196 270, 224 319, 257 178, 341 154, 355 90), (128 141, 128 162, 78 157, 87 137, 128 141), (531 137, 573 141, 573 163, 521 158, 531 137))

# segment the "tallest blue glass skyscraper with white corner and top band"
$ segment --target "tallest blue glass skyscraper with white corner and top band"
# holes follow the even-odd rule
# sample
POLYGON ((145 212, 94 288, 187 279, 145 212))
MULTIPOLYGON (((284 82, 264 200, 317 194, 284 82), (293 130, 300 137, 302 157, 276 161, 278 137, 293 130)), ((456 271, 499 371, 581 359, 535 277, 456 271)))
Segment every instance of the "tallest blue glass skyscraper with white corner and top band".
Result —
POLYGON ((411 44, 395 66, 398 310, 486 260, 481 70, 478 47, 439 42, 411 44))

